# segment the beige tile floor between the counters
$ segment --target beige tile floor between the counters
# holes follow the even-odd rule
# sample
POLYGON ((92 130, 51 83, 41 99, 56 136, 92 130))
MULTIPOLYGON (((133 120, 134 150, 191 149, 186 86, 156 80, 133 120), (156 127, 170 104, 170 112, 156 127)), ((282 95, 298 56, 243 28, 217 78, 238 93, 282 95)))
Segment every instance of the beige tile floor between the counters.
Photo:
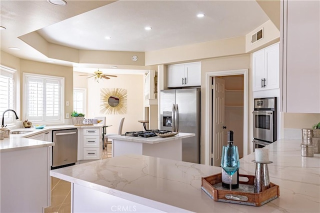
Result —
MULTIPOLYGON (((102 159, 111 157, 111 144, 107 145, 107 149, 102 151, 102 159)), ((83 160, 83 162, 85 162, 83 160)), ((83 163, 82 162, 82 163, 83 163)), ((44 208, 45 213, 57 212, 64 213, 71 211, 71 183, 58 179, 51 178, 51 205, 44 208)))

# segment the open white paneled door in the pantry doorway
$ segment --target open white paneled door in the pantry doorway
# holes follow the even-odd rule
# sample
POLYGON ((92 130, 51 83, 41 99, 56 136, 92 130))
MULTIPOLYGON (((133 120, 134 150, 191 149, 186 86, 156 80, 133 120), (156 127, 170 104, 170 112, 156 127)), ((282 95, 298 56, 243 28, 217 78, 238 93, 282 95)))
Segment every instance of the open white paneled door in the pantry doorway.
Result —
POLYGON ((224 80, 213 77, 212 82, 212 165, 220 166, 224 141, 224 80))

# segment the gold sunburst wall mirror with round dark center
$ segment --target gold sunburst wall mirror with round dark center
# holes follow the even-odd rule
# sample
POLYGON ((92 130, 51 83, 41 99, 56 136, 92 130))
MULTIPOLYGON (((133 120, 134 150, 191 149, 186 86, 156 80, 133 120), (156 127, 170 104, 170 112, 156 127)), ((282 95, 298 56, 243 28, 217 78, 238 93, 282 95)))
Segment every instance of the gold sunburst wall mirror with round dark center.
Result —
POLYGON ((104 114, 126 113, 126 89, 101 88, 100 112, 104 114))

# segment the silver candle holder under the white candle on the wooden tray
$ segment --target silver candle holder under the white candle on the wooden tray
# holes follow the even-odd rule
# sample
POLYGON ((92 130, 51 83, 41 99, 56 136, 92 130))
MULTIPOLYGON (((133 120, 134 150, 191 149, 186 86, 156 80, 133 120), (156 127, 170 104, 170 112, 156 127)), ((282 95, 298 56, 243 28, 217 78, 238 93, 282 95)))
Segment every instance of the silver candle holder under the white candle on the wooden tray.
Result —
POLYGON ((260 193, 270 187, 268 164, 272 161, 260 163, 255 162, 255 176, 254 176, 254 193, 260 193))

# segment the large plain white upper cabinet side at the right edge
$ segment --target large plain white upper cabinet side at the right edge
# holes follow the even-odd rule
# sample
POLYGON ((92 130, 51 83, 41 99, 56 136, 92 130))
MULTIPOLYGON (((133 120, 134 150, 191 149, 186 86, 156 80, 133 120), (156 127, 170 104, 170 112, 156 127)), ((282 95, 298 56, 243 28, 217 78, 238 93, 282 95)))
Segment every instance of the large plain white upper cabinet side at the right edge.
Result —
POLYGON ((320 113, 320 1, 281 2, 282 111, 320 113))

